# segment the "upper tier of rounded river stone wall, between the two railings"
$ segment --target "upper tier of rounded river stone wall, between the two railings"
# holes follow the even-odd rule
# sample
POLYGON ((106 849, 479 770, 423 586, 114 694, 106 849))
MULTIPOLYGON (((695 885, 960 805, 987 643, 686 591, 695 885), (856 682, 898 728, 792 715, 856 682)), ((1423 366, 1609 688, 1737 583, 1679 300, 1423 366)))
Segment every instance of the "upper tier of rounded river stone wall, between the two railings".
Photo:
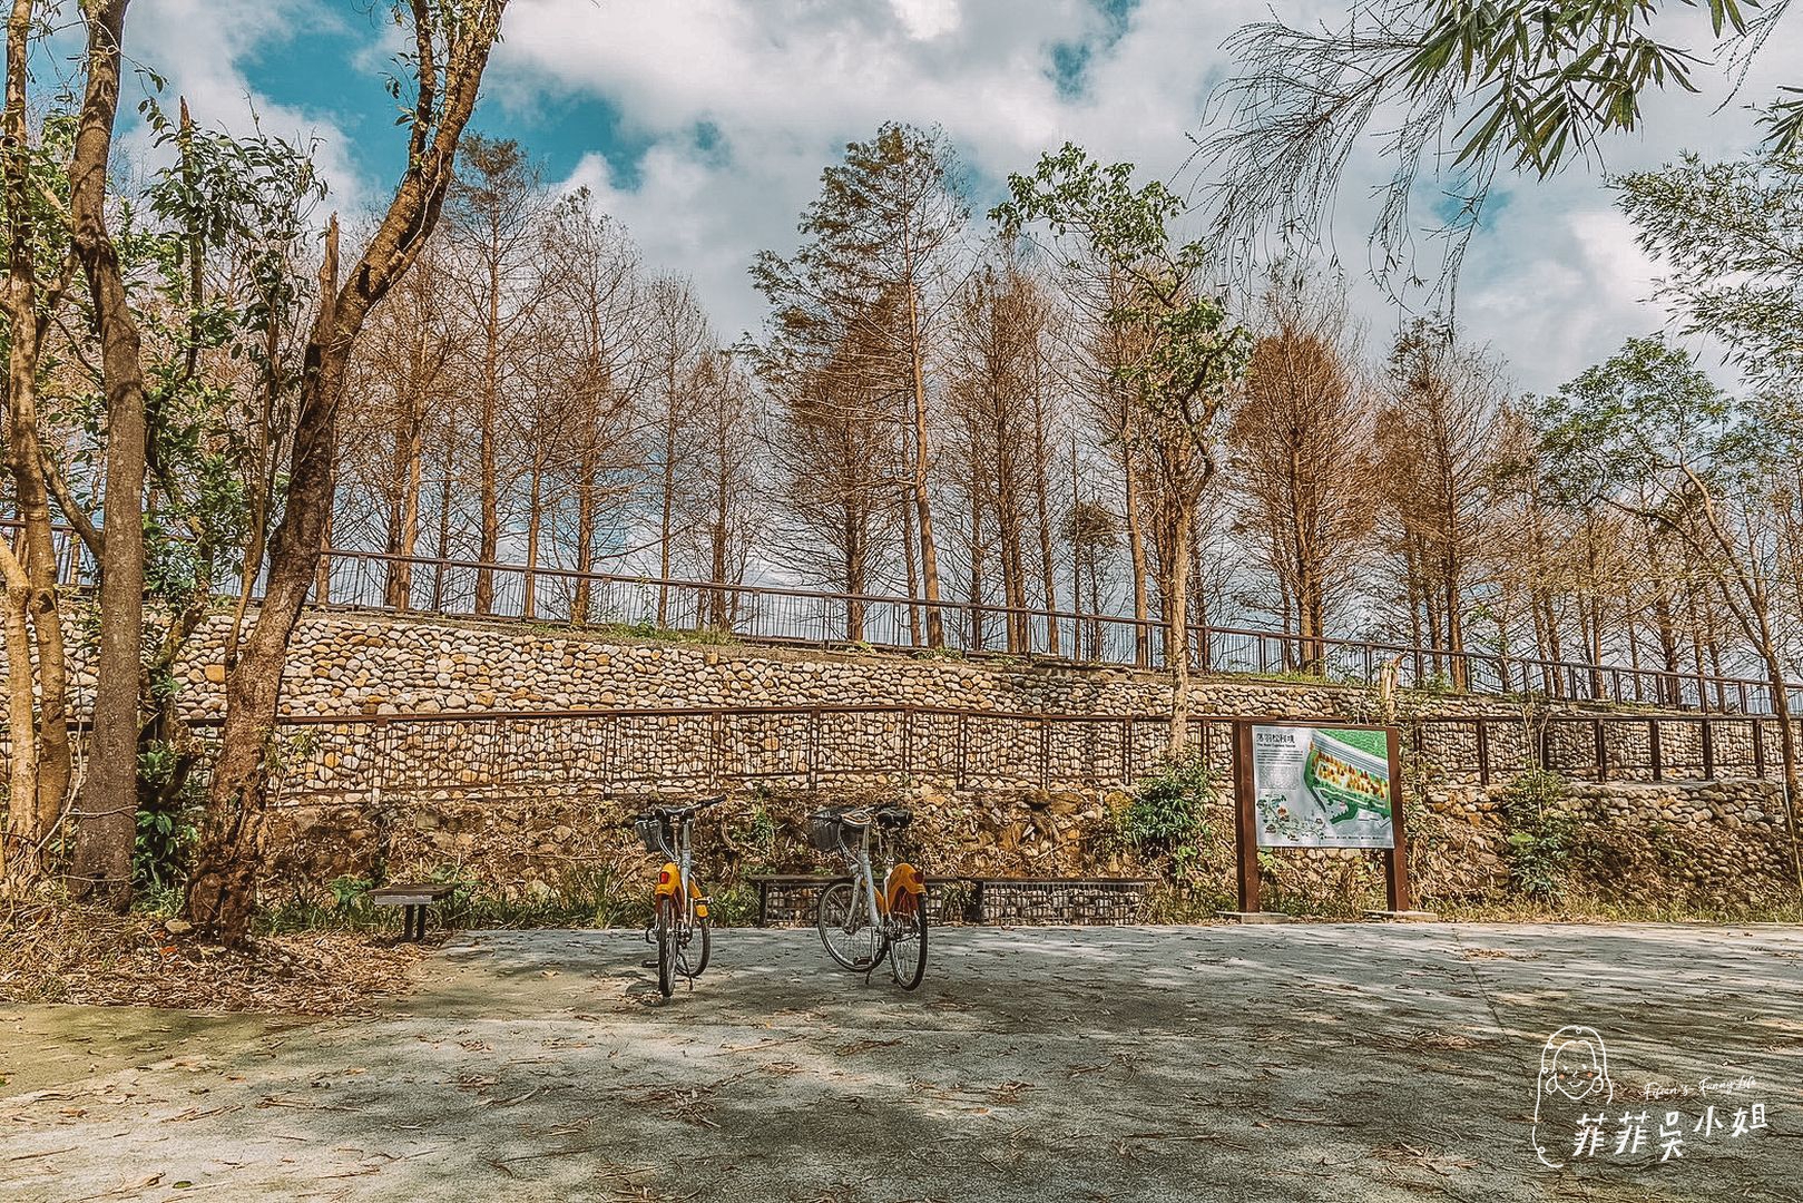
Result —
MULTIPOLYGON (((72 703, 76 712, 85 712, 94 693, 92 649, 81 622, 72 617, 69 624, 72 703)), ((175 678, 191 718, 225 711, 229 626, 227 613, 206 619, 177 664, 175 678)), ((1500 698, 1412 691, 1399 698, 1406 712, 1518 714, 1500 698)), ((285 714, 346 716, 867 703, 1159 714, 1170 709, 1170 685, 1161 673, 1125 667, 665 642, 532 622, 453 622, 326 610, 301 617, 281 698, 285 714)), ((1376 691, 1363 685, 1199 676, 1192 691, 1197 714, 1365 718, 1374 707, 1376 691)))

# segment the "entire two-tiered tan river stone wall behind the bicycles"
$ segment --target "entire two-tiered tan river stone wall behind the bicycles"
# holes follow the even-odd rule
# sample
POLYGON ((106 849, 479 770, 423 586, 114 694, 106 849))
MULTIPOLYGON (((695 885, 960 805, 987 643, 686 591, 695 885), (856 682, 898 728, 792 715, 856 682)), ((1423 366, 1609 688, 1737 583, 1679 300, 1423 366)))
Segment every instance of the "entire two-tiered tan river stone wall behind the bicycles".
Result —
MULTIPOLYGON (((191 718, 224 711, 225 624, 225 615, 209 619, 177 667, 191 718)), ((85 651, 74 653, 72 680, 78 711, 87 709, 85 651)), ((283 711, 343 721, 287 729, 287 767, 265 842, 267 891, 272 900, 319 896, 335 877, 449 875, 503 895, 539 895, 595 866, 631 866, 636 875, 645 853, 613 824, 654 792, 647 783, 694 792, 723 779, 734 781, 734 801, 705 853, 723 882, 822 868, 801 839, 801 819, 820 801, 858 795, 916 806, 916 851, 932 873, 1156 873, 1161 866, 1139 860, 1116 831, 1129 801, 1123 786, 1156 761, 1161 723, 1048 727, 865 712, 746 716, 725 729, 725 720, 710 716, 496 723, 451 714, 914 705, 1120 716, 1159 714, 1168 702, 1163 676, 1118 667, 633 640, 521 622, 314 611, 296 631, 283 711), (406 714, 444 718, 420 723, 406 714)), ((1502 698, 1401 693, 1394 705, 1403 718, 1496 720, 1486 729, 1489 783, 1477 781, 1473 725, 1424 725, 1419 754, 1408 748, 1406 776, 1419 900, 1507 900, 1516 884, 1500 797, 1511 767, 1533 763, 1536 729, 1502 698)), ((1217 676, 1195 682, 1192 707, 1215 716, 1368 721, 1377 696, 1367 687, 1217 676)), ((1751 723, 1744 729, 1716 727, 1718 770, 1751 765, 1751 723)), ((1197 730, 1222 768, 1226 730, 1197 730)), ((1612 779, 1572 785, 1581 839, 1565 869, 1570 882, 1599 898, 1715 911, 1758 909, 1794 895, 1774 786, 1682 781, 1702 776, 1702 748, 1698 729, 1680 716, 1662 720, 1659 736, 1664 776, 1679 781, 1634 781, 1646 776, 1644 732, 1612 725, 1603 736, 1612 779)), ((1554 727, 1549 750, 1583 761, 1592 738, 1588 723, 1554 727)), ((1771 732, 1767 743, 1774 743, 1771 732)), ((1233 873, 1224 801, 1210 815, 1204 844, 1194 889, 1224 900, 1233 873)), ((1381 898, 1368 855, 1284 851, 1266 857, 1266 875, 1275 900, 1311 909, 1356 909, 1381 898)))

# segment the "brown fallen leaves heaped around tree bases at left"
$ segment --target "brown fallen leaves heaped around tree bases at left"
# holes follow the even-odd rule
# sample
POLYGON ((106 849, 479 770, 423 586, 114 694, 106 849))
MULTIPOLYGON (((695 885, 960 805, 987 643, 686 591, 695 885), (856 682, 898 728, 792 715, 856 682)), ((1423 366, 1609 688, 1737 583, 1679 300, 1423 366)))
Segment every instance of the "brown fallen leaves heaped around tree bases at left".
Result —
POLYGON ((45 904, 0 914, 0 1001, 366 1014, 409 985, 422 950, 357 932, 261 936, 227 950, 148 916, 45 904))

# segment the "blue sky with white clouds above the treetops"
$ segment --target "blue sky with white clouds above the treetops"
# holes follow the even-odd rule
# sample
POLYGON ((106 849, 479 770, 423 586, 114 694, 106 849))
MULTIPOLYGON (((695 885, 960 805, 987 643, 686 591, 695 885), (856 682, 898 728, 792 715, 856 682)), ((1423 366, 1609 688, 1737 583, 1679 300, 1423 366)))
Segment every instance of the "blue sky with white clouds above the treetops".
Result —
MULTIPOLYGON (((1271 13, 1338 23, 1347 2, 512 0, 472 128, 519 139, 555 188, 590 188, 649 265, 694 280, 730 341, 763 319, 754 254, 793 249, 820 170, 880 123, 943 126, 979 215, 1010 171, 1064 141, 1170 177, 1233 70, 1228 34, 1271 13)), ((1671 40, 1706 43, 1706 22, 1679 9, 1671 40)), ((1605 164, 1498 180, 1457 316, 1520 388, 1552 390, 1668 325, 1650 301, 1657 265, 1601 171, 1753 148, 1745 101, 1803 83, 1803 16, 1787 32, 1738 97, 1700 69, 1702 96, 1652 97, 1646 132, 1610 142, 1605 164)), ((344 213, 373 207, 398 175, 402 132, 384 90, 398 41, 382 0, 137 0, 126 45, 198 121, 243 130, 254 114, 312 139, 344 213)), ((1356 161, 1334 218, 1331 245, 1354 272, 1379 173, 1376 155, 1356 161)), ((1356 298, 1374 341, 1387 337, 1396 308, 1368 283, 1356 298)))

